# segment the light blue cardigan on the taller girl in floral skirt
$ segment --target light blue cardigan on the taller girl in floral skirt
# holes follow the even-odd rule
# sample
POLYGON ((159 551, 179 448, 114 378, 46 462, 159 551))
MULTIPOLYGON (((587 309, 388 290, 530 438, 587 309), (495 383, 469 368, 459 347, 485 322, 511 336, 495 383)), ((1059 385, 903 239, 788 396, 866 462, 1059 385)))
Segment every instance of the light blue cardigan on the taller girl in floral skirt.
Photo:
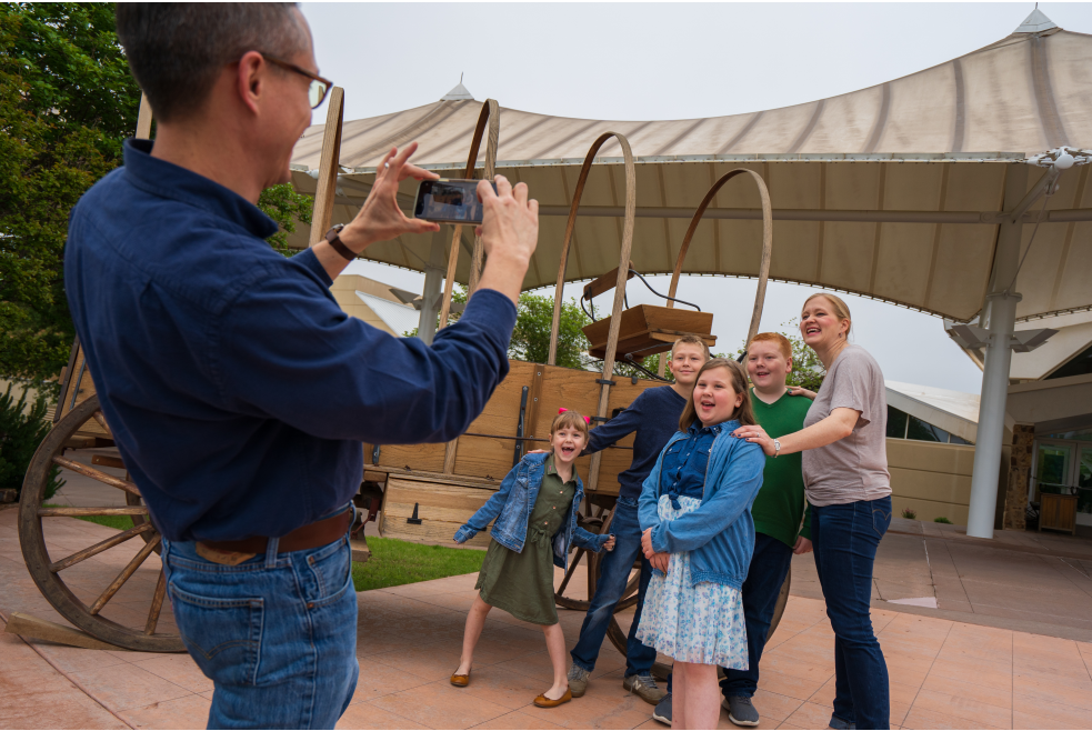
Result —
POLYGON ((713 440, 705 467, 705 488, 698 510, 669 522, 660 522, 660 470, 671 444, 688 434, 677 432, 668 442, 641 491, 641 530, 652 530, 657 552, 690 552, 690 578, 740 589, 747 579, 754 550, 751 503, 762 488, 765 454, 758 444, 732 437, 740 425, 723 423, 713 440))

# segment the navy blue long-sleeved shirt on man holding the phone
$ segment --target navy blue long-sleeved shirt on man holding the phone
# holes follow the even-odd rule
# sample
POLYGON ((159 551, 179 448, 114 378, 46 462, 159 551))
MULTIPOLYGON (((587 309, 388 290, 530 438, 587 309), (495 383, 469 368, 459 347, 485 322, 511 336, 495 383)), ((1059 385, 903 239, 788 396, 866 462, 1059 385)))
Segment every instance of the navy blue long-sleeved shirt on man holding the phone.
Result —
POLYGON ((72 210, 64 283, 126 467, 170 540, 284 535, 360 485, 361 441, 442 442, 508 373, 511 300, 431 348, 348 317, 311 251, 227 188, 126 143, 72 210))

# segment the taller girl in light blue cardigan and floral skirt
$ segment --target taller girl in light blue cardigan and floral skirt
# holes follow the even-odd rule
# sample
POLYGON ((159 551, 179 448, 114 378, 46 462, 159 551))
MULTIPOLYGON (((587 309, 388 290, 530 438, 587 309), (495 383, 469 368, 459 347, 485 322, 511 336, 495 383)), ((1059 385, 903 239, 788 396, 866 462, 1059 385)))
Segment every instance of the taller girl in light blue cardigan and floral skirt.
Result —
POLYGON ((641 543, 653 574, 637 638, 675 661, 674 728, 715 729, 718 665, 748 668, 740 588, 765 454, 732 432, 753 423, 743 367, 708 361, 641 492, 641 543))

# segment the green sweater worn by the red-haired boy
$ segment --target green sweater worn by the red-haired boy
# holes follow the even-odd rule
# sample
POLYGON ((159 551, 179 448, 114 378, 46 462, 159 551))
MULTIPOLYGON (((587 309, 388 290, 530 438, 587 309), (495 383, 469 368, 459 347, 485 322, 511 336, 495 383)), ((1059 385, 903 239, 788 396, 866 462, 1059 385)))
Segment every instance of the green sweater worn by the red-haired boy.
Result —
MULTIPOLYGON (((785 392, 773 403, 767 403, 754 395, 751 389, 751 403, 754 418, 771 438, 778 439, 804 428, 804 417, 811 401, 802 395, 785 392)), ((804 515, 804 473, 800 452, 782 454, 777 459, 765 458, 762 471, 762 489, 751 507, 754 530, 775 538, 787 545, 797 543, 800 519, 805 518, 799 534, 811 539, 811 515, 804 515)))

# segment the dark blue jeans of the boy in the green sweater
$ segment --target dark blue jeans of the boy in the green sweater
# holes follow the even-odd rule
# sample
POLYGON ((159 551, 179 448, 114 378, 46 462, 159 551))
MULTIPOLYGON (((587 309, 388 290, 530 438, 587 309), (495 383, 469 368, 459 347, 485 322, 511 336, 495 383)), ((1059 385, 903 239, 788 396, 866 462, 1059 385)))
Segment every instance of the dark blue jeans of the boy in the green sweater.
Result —
POLYGON ((743 620, 747 622, 748 670, 724 668, 724 698, 751 698, 759 688, 759 661, 770 633, 773 610, 792 563, 792 549, 765 533, 754 534, 754 553, 743 582, 743 620))

